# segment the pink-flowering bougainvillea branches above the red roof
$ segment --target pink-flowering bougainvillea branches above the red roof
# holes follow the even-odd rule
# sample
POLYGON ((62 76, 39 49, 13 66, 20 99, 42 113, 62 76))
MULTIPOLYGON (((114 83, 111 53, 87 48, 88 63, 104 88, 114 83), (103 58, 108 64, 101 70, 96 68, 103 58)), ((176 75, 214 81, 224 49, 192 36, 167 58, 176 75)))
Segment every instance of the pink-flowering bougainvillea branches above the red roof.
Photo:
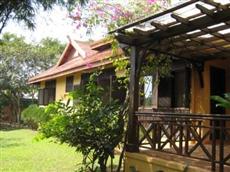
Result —
POLYGON ((168 6, 170 0, 91 0, 85 6, 77 6, 70 17, 76 28, 88 30, 100 25, 112 30, 128 22, 153 14, 168 6))

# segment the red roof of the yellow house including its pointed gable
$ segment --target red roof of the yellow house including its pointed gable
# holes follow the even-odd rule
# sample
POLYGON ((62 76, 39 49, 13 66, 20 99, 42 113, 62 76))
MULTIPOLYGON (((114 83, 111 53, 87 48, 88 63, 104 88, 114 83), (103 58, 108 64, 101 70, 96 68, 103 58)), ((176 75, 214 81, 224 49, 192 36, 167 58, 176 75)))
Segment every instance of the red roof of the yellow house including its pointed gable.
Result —
MULTIPOLYGON (((110 43, 104 42, 97 45, 89 42, 70 41, 58 63, 52 68, 31 77, 29 84, 40 81, 54 79, 60 76, 69 75, 79 71, 86 71, 98 68, 100 66, 111 65, 111 57, 115 57, 112 52, 110 43)), ((118 51, 120 55, 122 50, 118 51)))

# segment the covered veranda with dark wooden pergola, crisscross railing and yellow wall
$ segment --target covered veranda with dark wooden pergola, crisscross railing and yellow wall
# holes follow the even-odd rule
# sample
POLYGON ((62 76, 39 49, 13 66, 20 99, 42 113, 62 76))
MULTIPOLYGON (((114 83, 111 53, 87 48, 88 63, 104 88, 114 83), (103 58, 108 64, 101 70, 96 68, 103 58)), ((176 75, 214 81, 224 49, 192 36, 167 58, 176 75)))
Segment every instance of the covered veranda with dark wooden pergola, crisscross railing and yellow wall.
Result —
MULTIPOLYGON (((113 32, 124 50, 131 49, 127 152, 229 171, 230 112, 216 107, 210 96, 230 92, 230 3, 191 0, 113 32), (167 55, 175 65, 183 61, 190 80, 184 70, 173 86, 170 81, 155 92, 153 88, 152 106, 146 109, 140 108, 139 79, 149 54, 167 55), (178 103, 180 96, 189 97, 188 103, 178 103)), ((141 171, 130 157, 126 161, 141 171)))

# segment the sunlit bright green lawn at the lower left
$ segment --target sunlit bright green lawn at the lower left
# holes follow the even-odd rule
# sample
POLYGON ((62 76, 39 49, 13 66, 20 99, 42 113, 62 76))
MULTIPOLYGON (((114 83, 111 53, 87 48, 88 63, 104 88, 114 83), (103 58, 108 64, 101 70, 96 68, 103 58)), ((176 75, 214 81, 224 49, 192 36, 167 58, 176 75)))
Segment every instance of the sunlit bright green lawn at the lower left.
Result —
POLYGON ((0 172, 73 172, 81 154, 67 145, 35 141, 35 131, 0 131, 0 172))

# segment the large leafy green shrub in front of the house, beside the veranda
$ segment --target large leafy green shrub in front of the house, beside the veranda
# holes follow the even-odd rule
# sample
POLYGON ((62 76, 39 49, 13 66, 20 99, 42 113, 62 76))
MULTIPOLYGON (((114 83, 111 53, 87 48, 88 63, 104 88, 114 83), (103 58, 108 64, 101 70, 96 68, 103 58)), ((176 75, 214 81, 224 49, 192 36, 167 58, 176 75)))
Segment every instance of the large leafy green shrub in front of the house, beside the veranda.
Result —
POLYGON ((44 137, 56 137, 83 154, 81 171, 106 171, 109 157, 123 136, 124 116, 117 101, 103 101, 103 88, 95 82, 98 75, 90 77, 84 88, 73 93, 77 103, 56 102, 46 112, 50 119, 41 125, 44 137))

